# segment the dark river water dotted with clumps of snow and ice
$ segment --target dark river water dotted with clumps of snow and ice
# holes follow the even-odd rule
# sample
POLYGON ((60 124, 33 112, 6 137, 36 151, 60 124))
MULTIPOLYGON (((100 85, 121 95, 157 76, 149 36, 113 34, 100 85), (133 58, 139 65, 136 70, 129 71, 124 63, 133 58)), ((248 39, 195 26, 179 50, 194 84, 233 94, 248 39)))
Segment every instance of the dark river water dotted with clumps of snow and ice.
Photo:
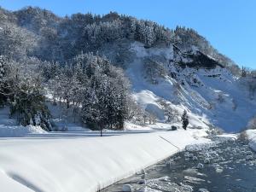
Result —
POLYGON ((160 163, 115 183, 103 192, 256 192, 256 154, 230 138, 188 146, 160 163))

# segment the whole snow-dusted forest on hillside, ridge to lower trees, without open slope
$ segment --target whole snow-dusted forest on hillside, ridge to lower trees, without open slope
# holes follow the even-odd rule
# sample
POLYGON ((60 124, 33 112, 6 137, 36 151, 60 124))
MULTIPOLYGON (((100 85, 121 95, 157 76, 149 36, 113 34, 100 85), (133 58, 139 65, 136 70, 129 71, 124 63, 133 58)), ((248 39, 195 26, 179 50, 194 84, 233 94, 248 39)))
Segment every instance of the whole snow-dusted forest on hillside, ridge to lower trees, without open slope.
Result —
POLYGON ((196 47, 234 75, 242 73, 193 29, 172 30, 115 12, 61 18, 32 7, 0 9, 0 104, 8 105, 21 125, 40 125, 47 131, 54 130, 47 93, 55 105, 65 102, 92 129, 122 129, 126 119, 143 121, 145 116, 154 121, 131 96, 124 73, 131 59, 127 42, 140 42, 145 49, 175 45, 183 52, 196 47), (105 55, 108 49, 115 54, 105 55))

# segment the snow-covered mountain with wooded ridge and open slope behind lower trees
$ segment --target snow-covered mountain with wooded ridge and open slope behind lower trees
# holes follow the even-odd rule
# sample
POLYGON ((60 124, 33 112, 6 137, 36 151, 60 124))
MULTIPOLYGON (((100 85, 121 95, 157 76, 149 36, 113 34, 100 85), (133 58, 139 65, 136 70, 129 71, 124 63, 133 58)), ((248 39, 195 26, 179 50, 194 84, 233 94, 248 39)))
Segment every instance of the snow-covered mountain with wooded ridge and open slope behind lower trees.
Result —
POLYGON ((26 70, 65 65, 81 52, 106 57, 123 68, 137 104, 162 123, 180 125, 187 110, 190 127, 240 131, 256 113, 255 89, 239 67, 192 29, 116 13, 61 18, 31 7, 0 9, 0 18, 0 55, 26 70))

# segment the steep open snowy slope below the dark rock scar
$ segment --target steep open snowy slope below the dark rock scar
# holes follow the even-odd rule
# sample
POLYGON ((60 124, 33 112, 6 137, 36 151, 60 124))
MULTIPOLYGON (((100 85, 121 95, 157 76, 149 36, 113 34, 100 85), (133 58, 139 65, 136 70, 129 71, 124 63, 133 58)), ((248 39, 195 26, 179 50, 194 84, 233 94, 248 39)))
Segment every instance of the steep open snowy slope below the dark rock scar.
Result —
POLYGON ((255 99, 249 98, 246 87, 229 70, 218 66, 209 69, 176 67, 172 46, 145 49, 143 44, 133 43, 131 51, 135 56, 126 74, 131 80, 134 97, 143 108, 157 113, 160 121, 165 119, 157 102, 160 99, 170 102, 180 115, 184 109, 188 110, 193 119, 192 127, 212 124, 224 131, 236 132, 255 115, 255 99), (157 84, 148 82, 145 75, 143 61, 147 57, 162 61, 167 72, 164 78, 157 79, 157 84))

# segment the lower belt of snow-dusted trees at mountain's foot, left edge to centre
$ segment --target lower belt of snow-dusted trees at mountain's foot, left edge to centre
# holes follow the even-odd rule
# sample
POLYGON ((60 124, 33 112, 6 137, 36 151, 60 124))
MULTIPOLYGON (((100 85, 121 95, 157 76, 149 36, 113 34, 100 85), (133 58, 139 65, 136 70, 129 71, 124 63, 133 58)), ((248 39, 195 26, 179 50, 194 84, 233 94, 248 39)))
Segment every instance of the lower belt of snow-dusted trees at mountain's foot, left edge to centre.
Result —
POLYGON ((146 113, 132 100, 129 80, 106 58, 80 54, 65 65, 31 60, 0 56, 0 103, 21 125, 54 130, 46 94, 91 129, 123 129, 125 120, 143 121, 146 113))

